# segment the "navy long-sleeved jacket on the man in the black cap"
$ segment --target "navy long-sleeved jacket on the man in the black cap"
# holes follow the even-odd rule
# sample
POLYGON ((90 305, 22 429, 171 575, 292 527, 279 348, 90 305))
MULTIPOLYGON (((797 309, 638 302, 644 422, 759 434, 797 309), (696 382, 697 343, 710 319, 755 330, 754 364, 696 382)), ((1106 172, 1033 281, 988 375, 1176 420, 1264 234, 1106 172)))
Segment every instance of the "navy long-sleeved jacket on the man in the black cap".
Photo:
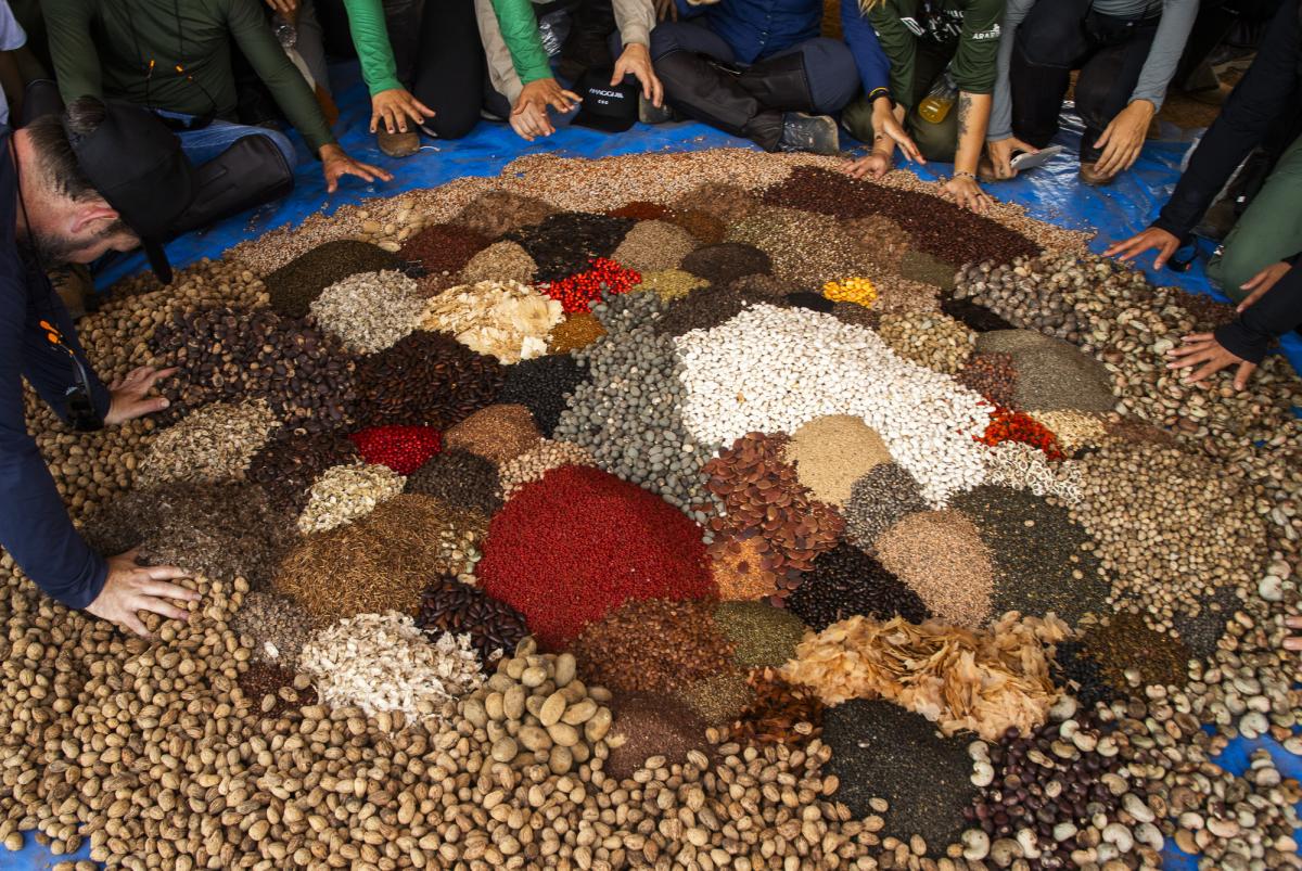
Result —
POLYGON ((85 608, 103 588, 108 565, 69 519, 55 479, 27 435, 22 408, 26 378, 68 421, 66 392, 77 383, 72 359, 48 341, 42 320, 57 327, 82 361, 100 418, 108 411, 109 394, 86 362, 72 318, 49 279, 18 250, 18 174, 10 135, 9 128, 0 125, 0 544, 47 595, 70 608, 85 608))

